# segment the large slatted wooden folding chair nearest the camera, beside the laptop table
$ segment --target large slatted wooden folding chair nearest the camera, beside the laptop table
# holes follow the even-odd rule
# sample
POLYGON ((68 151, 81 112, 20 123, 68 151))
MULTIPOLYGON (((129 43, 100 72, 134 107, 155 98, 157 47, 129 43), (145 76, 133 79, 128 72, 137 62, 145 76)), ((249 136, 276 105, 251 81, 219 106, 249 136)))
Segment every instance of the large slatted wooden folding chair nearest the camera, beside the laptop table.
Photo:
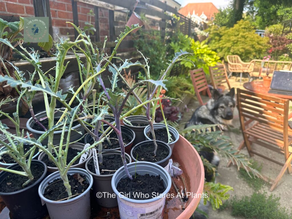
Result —
POLYGON ((256 154, 282 166, 275 180, 263 177, 265 181, 272 184, 270 188, 272 191, 286 170, 288 173, 292 173, 292 153, 288 150, 288 146, 292 143, 292 130, 288 127, 289 100, 237 88, 237 101, 244 138, 244 144, 241 144, 238 149, 241 150, 246 146, 250 156, 256 154), (252 122, 246 122, 244 119, 252 122), (285 163, 255 151, 251 147, 251 143, 284 154, 285 163))

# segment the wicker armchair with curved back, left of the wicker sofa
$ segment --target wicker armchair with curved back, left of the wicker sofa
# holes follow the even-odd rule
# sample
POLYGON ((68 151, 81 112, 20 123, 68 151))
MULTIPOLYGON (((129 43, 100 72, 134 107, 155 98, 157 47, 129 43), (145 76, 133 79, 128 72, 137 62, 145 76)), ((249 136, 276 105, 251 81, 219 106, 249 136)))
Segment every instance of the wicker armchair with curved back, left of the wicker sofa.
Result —
POLYGON ((228 77, 230 77, 232 72, 239 72, 240 73, 240 84, 241 84, 242 73, 248 72, 249 62, 241 61, 241 59, 238 55, 227 55, 227 61, 228 61, 228 70, 230 72, 228 77))

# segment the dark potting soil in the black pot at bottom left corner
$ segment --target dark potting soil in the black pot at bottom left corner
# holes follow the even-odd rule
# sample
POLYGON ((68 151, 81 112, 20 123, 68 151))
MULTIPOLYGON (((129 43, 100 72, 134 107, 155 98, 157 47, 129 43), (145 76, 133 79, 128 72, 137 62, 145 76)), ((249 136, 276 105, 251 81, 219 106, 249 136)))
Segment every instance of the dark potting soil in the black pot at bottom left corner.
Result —
MULTIPOLYGON (((17 171, 23 171, 20 166, 15 168, 17 171)), ((44 173, 44 166, 39 164, 31 164, 30 170, 32 171, 32 175, 34 176, 34 179, 32 182, 28 183, 25 187, 31 185, 36 180, 38 180, 41 175, 44 173)), ((22 187, 22 184, 25 183, 28 180, 26 176, 21 176, 15 173, 11 173, 8 177, 6 177, 1 183, 0 183, 0 191, 1 192, 15 192, 18 190, 21 190, 25 187, 22 187)))

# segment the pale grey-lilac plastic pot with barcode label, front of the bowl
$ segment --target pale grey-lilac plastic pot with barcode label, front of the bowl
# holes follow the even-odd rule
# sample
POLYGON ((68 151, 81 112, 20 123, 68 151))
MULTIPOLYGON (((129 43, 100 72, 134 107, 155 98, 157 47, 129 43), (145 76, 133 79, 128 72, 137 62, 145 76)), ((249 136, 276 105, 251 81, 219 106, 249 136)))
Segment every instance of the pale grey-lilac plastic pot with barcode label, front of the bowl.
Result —
POLYGON ((133 162, 127 164, 130 175, 135 175, 135 172, 140 175, 160 175, 163 180, 164 187, 166 188, 162 194, 156 197, 152 197, 147 200, 135 200, 126 197, 118 192, 117 184, 122 178, 126 178, 126 171, 124 167, 119 168, 112 177, 112 189, 117 196, 119 204, 119 213, 121 219, 134 219, 143 216, 140 214, 148 215, 149 219, 162 218, 164 210, 166 194, 169 192, 171 187, 171 177, 161 166, 150 163, 150 162, 133 162), (152 213, 154 211, 154 213, 152 213), (149 214, 147 214, 149 213, 149 214), (151 214, 152 213, 152 214, 151 214))

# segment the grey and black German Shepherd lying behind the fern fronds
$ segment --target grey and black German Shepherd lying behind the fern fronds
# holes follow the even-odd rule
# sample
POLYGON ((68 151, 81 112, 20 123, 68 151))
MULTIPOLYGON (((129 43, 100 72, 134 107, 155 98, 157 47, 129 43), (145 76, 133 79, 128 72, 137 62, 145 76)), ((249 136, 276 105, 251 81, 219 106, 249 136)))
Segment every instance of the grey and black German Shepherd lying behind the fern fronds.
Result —
MULTIPOLYGON (((201 124, 222 124, 231 125, 233 119, 233 110, 235 107, 235 91, 234 88, 226 93, 225 95, 220 94, 217 90, 213 90, 212 98, 208 100, 206 105, 198 107, 190 121, 185 125, 185 128, 192 125, 201 124)), ((200 156, 207 159, 211 164, 215 165, 216 168, 219 165, 220 158, 212 150, 200 151, 200 156)), ((212 181, 213 175, 205 170, 206 182, 212 181)), ((208 208, 210 203, 207 202, 206 205, 201 199, 198 209, 208 215, 208 208)), ((200 213, 200 211, 195 211, 191 218, 195 219, 206 219, 206 215, 200 213)))

